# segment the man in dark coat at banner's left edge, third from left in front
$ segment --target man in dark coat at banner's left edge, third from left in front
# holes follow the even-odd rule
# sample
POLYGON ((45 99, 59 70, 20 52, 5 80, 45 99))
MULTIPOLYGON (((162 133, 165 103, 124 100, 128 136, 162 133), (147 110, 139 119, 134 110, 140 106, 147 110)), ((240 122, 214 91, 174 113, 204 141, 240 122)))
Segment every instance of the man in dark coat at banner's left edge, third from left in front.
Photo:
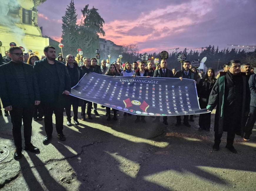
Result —
MULTIPOLYGON (((71 87, 74 87, 77 85, 79 80, 83 77, 83 72, 81 68, 74 64, 74 56, 71 54, 68 54, 66 57, 66 67, 69 72, 70 80, 71 80, 71 87)), ((79 98, 76 98, 74 96, 67 95, 66 97, 66 104, 65 104, 65 112, 67 115, 67 126, 71 126, 71 105, 73 107, 73 113, 74 113, 74 123, 75 125, 79 125, 78 122, 78 105, 79 105, 79 98)))

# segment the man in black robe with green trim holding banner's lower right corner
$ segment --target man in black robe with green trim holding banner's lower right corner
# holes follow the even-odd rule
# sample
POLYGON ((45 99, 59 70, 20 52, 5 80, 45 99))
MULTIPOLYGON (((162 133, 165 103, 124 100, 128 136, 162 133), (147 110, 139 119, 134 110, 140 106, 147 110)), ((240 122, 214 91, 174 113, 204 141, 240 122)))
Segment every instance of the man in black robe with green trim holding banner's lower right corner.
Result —
POLYGON ((237 153, 233 143, 235 134, 243 136, 245 120, 247 119, 247 101, 250 101, 249 84, 246 75, 240 72, 241 61, 231 60, 228 71, 217 79, 210 93, 207 110, 212 111, 215 106, 214 145, 213 150, 220 149, 223 132, 227 132, 226 148, 237 153))

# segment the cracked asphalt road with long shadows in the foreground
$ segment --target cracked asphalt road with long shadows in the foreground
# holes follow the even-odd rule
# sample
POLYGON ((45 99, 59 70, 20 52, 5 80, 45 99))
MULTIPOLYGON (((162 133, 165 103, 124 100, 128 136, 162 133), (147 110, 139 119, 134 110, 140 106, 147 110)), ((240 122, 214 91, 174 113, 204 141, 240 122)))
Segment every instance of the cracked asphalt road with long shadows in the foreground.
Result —
POLYGON ((175 117, 168 117, 168 126, 146 117, 144 125, 120 111, 118 121, 109 122, 104 109, 98 111, 79 126, 67 127, 64 117, 67 140, 59 141, 54 129, 47 145, 44 121, 33 121, 32 143, 41 152, 23 151, 17 161, 11 117, 0 116, 0 147, 10 151, 0 162, 0 189, 256 190, 255 130, 249 142, 236 136, 233 154, 225 148, 226 134, 220 151, 212 150, 214 114, 210 132, 199 132, 198 117, 192 127, 175 127, 175 117))

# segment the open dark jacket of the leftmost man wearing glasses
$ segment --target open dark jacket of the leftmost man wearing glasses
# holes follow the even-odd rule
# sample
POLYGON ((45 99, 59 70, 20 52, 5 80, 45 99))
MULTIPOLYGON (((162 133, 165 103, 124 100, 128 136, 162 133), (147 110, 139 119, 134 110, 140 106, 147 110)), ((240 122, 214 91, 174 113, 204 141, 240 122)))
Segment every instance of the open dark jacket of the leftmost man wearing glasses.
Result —
MULTIPOLYGON (((35 100, 41 100, 36 75, 33 66, 25 63, 22 63, 22 66, 29 91, 29 100, 31 104, 34 104, 35 100)), ((0 97, 4 108, 10 105, 19 106, 22 100, 20 100, 19 84, 16 79, 15 69, 12 62, 0 66, 0 76, 0 97)))

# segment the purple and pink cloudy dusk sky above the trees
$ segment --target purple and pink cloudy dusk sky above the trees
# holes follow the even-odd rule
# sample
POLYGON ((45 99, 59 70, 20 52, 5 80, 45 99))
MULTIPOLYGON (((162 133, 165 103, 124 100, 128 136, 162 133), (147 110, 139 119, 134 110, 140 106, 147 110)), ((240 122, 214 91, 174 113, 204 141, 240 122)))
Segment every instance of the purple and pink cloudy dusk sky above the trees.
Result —
MULTIPOLYGON (((43 35, 61 40, 61 17, 69 3, 47 0, 37 7, 43 35)), ((78 22, 81 9, 94 6, 105 21, 103 38, 117 45, 137 44, 141 53, 256 44, 256 0, 74 0, 74 4, 78 22)))

